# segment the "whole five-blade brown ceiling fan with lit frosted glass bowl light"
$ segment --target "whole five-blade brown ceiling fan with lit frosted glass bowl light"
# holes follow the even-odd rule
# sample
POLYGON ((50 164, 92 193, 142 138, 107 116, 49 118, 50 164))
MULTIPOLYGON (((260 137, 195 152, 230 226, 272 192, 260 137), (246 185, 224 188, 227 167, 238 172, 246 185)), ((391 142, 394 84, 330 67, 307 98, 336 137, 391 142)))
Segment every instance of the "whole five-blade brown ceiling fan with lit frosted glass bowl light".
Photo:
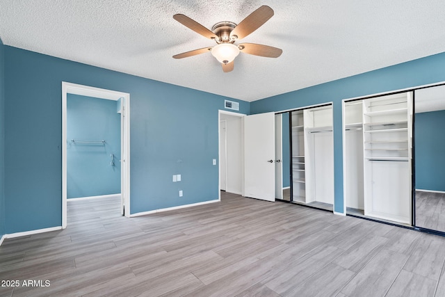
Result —
POLYGON ((245 38, 247 35, 257 30, 272 16, 272 8, 269 6, 261 6, 248 15, 248 17, 243 19, 238 25, 234 22, 218 22, 213 25, 210 31, 202 26, 202 24, 195 22, 190 17, 186 17, 186 15, 173 15, 173 18, 184 26, 192 29, 196 33, 200 33, 205 38, 216 41, 218 44, 214 47, 204 47, 202 49, 186 51, 185 53, 173 56, 173 58, 187 58, 210 51, 211 54, 223 65, 224 72, 234 70, 234 59, 240 52, 255 56, 277 58, 282 54, 282 49, 278 49, 277 47, 258 45, 255 43, 241 43, 235 45, 237 40, 245 38))

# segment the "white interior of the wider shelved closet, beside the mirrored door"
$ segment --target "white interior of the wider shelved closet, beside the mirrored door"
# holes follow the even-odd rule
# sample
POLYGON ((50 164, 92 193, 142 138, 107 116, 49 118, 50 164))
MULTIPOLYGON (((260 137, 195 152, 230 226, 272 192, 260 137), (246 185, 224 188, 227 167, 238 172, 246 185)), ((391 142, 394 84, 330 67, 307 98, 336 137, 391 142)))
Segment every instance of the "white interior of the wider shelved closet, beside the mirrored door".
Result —
POLYGON ((344 107, 347 212, 410 224, 412 93, 344 107))

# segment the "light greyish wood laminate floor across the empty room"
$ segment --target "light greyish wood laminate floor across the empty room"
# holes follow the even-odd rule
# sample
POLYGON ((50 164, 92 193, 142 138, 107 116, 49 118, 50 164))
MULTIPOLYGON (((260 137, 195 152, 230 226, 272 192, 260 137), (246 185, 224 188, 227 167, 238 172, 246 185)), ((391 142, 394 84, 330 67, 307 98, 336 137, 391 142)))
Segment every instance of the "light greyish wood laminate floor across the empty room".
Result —
POLYGON ((68 203, 65 230, 6 239, 0 296, 445 296, 445 238, 284 202, 138 218, 68 203))

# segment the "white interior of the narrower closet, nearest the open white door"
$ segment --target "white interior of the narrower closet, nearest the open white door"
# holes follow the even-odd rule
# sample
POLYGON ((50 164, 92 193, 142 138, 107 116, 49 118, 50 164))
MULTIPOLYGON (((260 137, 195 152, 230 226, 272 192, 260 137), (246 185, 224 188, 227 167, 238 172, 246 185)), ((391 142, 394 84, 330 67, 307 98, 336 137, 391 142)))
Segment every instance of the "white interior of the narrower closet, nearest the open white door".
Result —
POLYGON ((332 106, 291 112, 293 202, 332 210, 332 106))

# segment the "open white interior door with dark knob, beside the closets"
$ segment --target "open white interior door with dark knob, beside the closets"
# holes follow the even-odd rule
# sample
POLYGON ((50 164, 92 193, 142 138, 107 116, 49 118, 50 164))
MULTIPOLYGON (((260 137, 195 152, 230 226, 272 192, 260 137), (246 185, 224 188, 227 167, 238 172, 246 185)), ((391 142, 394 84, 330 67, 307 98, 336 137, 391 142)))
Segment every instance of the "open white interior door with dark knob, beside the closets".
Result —
POLYGON ((244 195, 275 201, 275 113, 244 118, 244 195))

